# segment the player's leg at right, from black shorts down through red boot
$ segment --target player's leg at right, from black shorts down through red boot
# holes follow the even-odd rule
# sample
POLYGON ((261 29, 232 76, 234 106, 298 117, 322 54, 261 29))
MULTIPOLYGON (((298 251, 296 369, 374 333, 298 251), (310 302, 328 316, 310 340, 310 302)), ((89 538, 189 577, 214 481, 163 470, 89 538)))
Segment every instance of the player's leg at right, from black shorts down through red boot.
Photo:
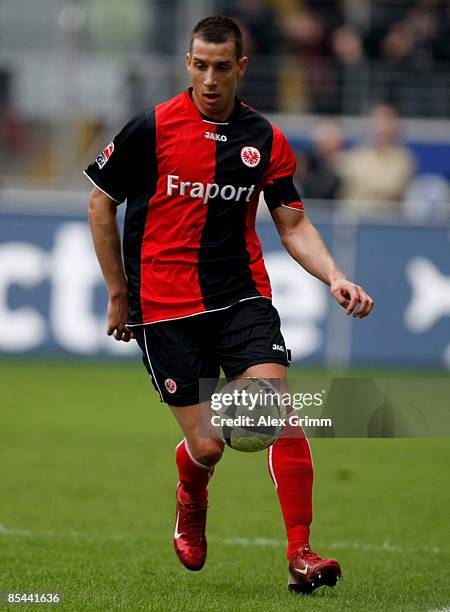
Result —
MULTIPOLYGON (((221 360, 225 374, 271 379, 285 393, 288 350, 278 313, 265 300, 244 304, 225 326, 221 360)), ((269 448, 268 463, 286 526, 290 590, 307 593, 323 584, 332 586, 340 577, 339 564, 322 559, 309 547, 313 467, 309 443, 300 427, 288 424, 269 448)))

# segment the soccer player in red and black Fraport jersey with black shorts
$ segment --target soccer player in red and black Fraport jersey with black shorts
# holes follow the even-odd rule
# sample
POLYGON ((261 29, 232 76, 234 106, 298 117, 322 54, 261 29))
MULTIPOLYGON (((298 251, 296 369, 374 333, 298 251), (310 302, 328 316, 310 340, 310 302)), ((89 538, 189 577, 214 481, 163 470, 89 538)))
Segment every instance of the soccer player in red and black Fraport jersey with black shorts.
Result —
MULTIPOLYGON (((162 402, 184 433, 174 545, 190 570, 206 559, 207 486, 224 445, 199 432, 201 378, 286 379, 288 351, 255 231, 260 192, 289 254, 327 283, 348 315, 372 299, 338 269, 304 214, 282 132, 236 97, 248 59, 230 19, 194 28, 192 87, 132 119, 86 170, 89 220, 109 293, 108 330, 134 337, 162 402), (123 257, 117 205, 127 200, 123 257)), ((289 588, 333 586, 339 563, 309 546, 312 464, 307 439, 282 437, 269 469, 287 532, 289 588)))

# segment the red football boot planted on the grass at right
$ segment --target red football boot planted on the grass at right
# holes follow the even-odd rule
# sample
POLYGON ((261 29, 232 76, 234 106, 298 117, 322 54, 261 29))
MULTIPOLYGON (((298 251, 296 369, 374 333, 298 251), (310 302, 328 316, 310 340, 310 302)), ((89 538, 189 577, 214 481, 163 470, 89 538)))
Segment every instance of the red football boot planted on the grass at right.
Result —
POLYGON ((322 559, 305 544, 289 560, 288 589, 308 594, 321 586, 335 586, 341 576, 337 561, 322 559))

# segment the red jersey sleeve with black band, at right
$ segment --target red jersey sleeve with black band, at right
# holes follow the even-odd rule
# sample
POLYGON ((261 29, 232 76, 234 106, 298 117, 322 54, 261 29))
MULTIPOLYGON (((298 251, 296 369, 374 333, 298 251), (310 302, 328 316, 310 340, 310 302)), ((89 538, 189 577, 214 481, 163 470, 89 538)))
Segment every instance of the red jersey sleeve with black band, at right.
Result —
POLYGON ((270 166, 264 181, 264 199, 270 212, 284 206, 299 212, 304 205, 294 185, 297 162, 285 135, 273 126, 273 144, 270 166))

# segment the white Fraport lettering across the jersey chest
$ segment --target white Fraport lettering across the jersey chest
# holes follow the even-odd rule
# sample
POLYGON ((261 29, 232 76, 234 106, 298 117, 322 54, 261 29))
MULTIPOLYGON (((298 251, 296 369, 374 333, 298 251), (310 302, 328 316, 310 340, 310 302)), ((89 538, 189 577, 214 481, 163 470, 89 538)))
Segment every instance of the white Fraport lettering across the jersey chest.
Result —
POLYGON ((179 176, 167 175, 167 195, 189 195, 193 200, 202 199, 203 204, 209 200, 220 197, 222 200, 234 200, 250 202, 255 191, 255 185, 251 187, 235 187, 234 185, 223 185, 217 183, 191 183, 190 181, 179 181, 179 176))

